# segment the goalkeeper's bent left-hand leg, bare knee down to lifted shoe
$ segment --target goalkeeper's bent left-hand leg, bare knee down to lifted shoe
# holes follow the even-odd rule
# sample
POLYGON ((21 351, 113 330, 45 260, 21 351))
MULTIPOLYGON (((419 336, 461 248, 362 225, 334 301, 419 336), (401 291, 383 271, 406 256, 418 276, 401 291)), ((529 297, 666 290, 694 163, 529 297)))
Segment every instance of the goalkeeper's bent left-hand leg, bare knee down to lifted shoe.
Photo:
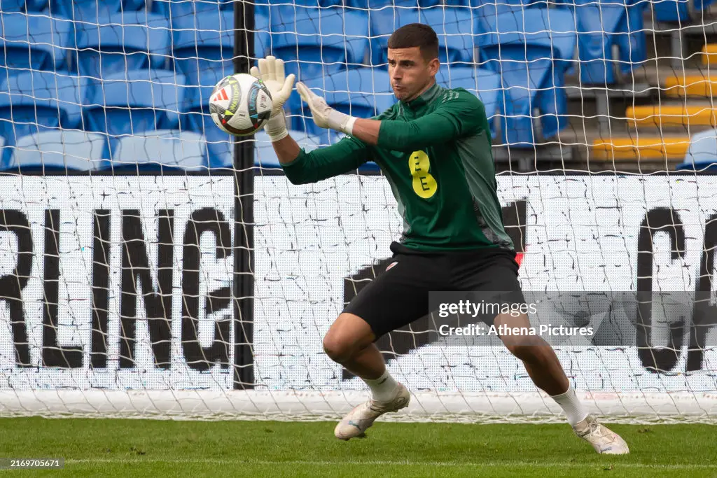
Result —
POLYGON ((407 388, 386 371, 384 357, 376 348, 375 339, 369 324, 348 312, 338 316, 323 339, 326 355, 359 376, 371 388, 371 400, 353 408, 336 425, 334 434, 338 439, 364 436, 366 429, 379 416, 408 406, 411 399, 407 388))

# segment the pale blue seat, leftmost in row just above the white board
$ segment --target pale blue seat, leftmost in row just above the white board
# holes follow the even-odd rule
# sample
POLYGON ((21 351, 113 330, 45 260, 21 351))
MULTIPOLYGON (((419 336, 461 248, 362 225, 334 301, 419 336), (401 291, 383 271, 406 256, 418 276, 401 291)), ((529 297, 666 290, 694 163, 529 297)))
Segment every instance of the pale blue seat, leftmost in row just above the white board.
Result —
POLYGON ((43 131, 17 140, 7 171, 98 171, 103 161, 107 137, 77 130, 43 131))

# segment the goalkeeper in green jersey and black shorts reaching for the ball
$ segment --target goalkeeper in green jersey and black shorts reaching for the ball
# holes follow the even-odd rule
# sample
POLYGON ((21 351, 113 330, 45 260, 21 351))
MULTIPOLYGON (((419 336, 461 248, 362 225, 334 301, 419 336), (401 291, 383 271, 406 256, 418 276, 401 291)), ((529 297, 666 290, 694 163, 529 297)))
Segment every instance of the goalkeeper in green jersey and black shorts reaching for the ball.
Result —
MULTIPOLYGON (((371 400, 336 426, 339 439, 364 436, 382 414, 408 406, 409 391, 386 371, 374 342, 427 315, 430 291, 508 291, 523 302, 516 253, 503 227, 496 194, 490 130, 483 103, 462 88, 436 84, 438 39, 423 24, 409 24, 389 38, 389 76, 399 102, 375 119, 353 118, 326 104, 305 85, 297 90, 321 128, 346 133, 338 143, 305 153, 289 135, 282 105, 294 75, 280 59, 252 67, 272 92, 274 110, 265 130, 289 181, 315 183, 376 162, 391 185, 404 218, 393 262, 341 312, 323 340, 328 356, 361 377, 371 400)), ((508 327, 529 327, 527 315, 483 317, 508 327)), ((533 383, 564 410, 575 433, 598 453, 626 454, 625 441, 599 424, 577 398, 542 338, 501 336, 525 364, 533 383)))

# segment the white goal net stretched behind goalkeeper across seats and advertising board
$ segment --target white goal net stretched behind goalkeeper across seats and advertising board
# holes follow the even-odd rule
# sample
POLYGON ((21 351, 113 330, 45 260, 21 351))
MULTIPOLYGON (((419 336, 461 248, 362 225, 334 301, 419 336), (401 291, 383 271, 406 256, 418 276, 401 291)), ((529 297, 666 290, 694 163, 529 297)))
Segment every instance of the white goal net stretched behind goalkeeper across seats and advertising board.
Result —
MULTIPOLYGON (((364 401, 322 339, 391 264, 389 183, 367 163, 293 185, 264 133, 232 142, 207 101, 274 54, 369 118, 395 102, 391 32, 420 22, 437 82, 485 105, 531 320, 594 331, 551 339, 579 396, 614 420, 715 421, 713 18, 668 0, 3 1, 0 414, 336 419, 364 401)), ((340 139, 297 94, 286 110, 303 148, 340 139)), ((563 419, 495 337, 442 335, 434 314, 377 345, 414 394, 386 419, 563 419)))

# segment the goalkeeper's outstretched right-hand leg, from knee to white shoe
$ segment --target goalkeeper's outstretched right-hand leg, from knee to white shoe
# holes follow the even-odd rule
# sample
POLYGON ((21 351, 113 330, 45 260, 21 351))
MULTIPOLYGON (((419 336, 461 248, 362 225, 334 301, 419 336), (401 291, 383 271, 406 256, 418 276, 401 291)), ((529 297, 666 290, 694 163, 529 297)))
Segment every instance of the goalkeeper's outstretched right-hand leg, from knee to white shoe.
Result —
MULTIPOLYGON (((525 314, 513 317, 500 314, 495 317, 495 327, 530 327, 525 314)), ((588 414, 583 403, 563 371, 560 360, 553 348, 537 336, 504 335, 500 338, 505 347, 517 358, 523 360, 528 375, 538 388, 548 393, 563 408, 568 423, 575 433, 592 444, 595 451, 605 454, 627 454, 630 449, 618 434, 610 431, 588 414)))

